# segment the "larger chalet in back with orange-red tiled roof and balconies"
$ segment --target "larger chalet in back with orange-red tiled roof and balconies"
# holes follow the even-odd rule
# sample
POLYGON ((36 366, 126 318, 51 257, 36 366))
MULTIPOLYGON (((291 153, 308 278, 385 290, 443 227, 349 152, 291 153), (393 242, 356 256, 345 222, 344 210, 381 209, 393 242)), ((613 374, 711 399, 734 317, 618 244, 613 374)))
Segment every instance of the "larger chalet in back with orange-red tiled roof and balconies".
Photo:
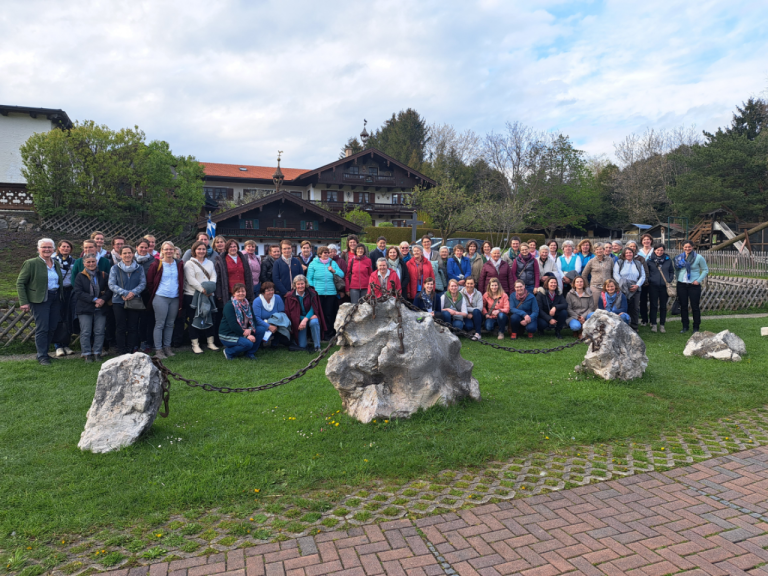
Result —
MULTIPOLYGON (((207 201, 243 202, 275 193, 276 167, 203 162, 207 201)), ((434 186, 431 178, 375 148, 352 154, 316 168, 282 168, 280 190, 310 204, 344 212, 358 207, 370 213, 374 225, 402 226, 410 217, 406 198, 416 186, 434 186)))

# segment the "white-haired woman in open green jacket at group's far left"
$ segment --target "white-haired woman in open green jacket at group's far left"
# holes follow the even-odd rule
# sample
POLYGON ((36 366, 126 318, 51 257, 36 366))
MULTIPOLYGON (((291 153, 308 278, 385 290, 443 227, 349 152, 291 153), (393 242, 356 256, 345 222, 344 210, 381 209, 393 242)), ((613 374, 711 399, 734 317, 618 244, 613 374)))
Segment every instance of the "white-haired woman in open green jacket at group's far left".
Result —
POLYGON ((32 310, 35 317, 35 348, 37 361, 42 366, 51 365, 48 348, 61 319, 64 278, 59 263, 53 260, 54 249, 50 238, 38 240, 38 256, 24 262, 16 280, 21 309, 32 310))

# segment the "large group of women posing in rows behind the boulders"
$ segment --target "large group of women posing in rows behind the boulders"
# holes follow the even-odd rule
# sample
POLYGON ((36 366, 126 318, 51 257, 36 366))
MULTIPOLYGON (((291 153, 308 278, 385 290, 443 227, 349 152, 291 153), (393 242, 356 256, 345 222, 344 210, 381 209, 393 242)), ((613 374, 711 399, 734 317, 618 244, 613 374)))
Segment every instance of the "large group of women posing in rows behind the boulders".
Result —
POLYGON ((373 290, 396 290, 425 314, 482 338, 533 338, 570 329, 580 337, 596 310, 616 314, 633 330, 650 326, 665 332, 667 301, 676 290, 682 330, 698 331, 704 258, 687 242, 675 258, 644 235, 623 245, 584 239, 554 240, 542 246, 513 237, 502 250, 470 241, 453 250, 421 244, 387 246, 377 239, 368 253, 356 236, 347 249, 309 241, 294 254, 289 240, 256 255, 256 243, 201 232, 184 254, 172 242, 155 250, 152 236, 134 246, 125 238, 94 232, 82 254, 67 240, 38 241, 38 256, 27 260, 17 288, 23 310, 35 319, 38 361, 74 354, 72 335, 80 334, 86 362, 136 351, 173 356, 188 335, 192 350, 223 348, 227 359, 255 359, 260 347, 287 346, 318 351, 334 335, 343 302, 357 303, 373 290), (671 289, 672 286, 676 288, 671 289))

